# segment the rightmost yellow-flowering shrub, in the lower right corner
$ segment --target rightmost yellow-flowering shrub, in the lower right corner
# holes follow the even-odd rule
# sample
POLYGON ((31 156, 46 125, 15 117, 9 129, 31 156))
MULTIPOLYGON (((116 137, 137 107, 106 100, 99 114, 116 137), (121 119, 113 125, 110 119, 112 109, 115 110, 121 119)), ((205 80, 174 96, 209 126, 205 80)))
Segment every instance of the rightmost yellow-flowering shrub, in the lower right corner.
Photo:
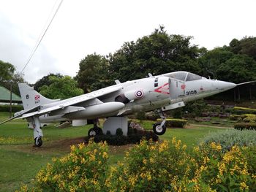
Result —
POLYGON ((197 170, 192 181, 197 191, 253 191, 255 170, 247 155, 255 152, 255 147, 237 145, 222 152, 222 146, 215 142, 195 147, 192 159, 197 161, 197 170), (204 186, 208 190, 203 190, 204 186))

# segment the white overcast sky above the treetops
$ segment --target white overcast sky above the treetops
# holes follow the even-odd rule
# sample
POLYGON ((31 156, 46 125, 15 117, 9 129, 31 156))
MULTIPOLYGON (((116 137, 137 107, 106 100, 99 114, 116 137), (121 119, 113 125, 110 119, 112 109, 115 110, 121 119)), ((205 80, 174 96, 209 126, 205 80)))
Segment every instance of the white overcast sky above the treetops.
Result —
MULTIPOLYGON (((60 0, 0 0, 0 60, 23 69, 60 0)), ((208 50, 256 36, 255 0, 64 0, 24 71, 34 83, 51 73, 72 77, 86 55, 108 55, 165 26, 208 50)))

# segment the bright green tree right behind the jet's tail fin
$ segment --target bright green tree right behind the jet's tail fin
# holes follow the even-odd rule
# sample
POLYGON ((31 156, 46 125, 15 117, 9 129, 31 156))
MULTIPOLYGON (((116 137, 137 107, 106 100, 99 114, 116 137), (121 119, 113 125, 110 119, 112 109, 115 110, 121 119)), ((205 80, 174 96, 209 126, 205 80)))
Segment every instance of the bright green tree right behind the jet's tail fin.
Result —
POLYGON ((43 85, 39 88, 39 92, 49 99, 68 99, 83 94, 83 90, 78 88, 78 82, 72 77, 50 76, 49 80, 50 85, 43 85))

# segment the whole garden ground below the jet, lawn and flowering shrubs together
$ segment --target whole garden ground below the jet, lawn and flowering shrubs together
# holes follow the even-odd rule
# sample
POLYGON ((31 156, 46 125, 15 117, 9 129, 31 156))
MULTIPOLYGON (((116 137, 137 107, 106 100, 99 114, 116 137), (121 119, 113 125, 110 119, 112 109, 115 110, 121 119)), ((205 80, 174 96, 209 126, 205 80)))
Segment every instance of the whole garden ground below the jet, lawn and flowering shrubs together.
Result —
MULTIPOLYGON (((132 121, 146 130, 155 122, 132 121)), ((42 147, 32 147, 25 121, 7 123, 0 127, 0 191, 252 191, 256 131, 235 130, 228 118, 211 121, 188 120, 158 142, 123 146, 80 144, 91 126, 50 125, 42 147)))

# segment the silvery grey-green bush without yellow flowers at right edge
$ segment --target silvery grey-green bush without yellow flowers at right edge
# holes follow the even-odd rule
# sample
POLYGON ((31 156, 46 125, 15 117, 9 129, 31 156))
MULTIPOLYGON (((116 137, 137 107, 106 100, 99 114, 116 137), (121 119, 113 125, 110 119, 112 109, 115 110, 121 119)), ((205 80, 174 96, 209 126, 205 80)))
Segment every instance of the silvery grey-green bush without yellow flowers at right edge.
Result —
POLYGON ((239 147, 256 145, 256 132, 255 131, 238 131, 227 130, 221 133, 209 134, 203 143, 209 144, 211 142, 221 145, 223 151, 230 150, 231 147, 237 145, 239 147))

